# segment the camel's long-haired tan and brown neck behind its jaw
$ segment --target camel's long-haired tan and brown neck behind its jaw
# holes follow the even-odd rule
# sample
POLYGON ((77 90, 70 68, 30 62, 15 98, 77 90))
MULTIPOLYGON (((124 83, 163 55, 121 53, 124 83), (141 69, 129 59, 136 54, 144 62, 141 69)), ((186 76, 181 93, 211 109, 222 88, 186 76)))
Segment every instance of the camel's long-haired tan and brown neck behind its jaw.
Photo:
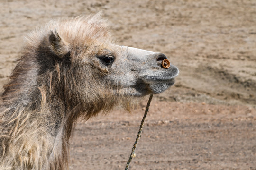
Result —
POLYGON ((66 87, 72 80, 64 68, 43 53, 40 47, 25 52, 0 96, 0 169, 68 169, 68 141, 81 104, 66 87))

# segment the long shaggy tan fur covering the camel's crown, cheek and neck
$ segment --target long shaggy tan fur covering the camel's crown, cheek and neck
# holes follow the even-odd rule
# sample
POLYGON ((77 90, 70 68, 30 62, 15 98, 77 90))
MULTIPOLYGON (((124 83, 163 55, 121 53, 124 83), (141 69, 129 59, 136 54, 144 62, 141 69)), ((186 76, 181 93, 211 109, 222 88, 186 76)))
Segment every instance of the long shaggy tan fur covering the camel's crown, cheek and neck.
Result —
POLYGON ((0 95, 0 170, 68 169, 76 120, 119 102, 128 109, 130 99, 114 94, 107 69, 91 59, 112 42, 100 15, 52 20, 26 37, 0 95))

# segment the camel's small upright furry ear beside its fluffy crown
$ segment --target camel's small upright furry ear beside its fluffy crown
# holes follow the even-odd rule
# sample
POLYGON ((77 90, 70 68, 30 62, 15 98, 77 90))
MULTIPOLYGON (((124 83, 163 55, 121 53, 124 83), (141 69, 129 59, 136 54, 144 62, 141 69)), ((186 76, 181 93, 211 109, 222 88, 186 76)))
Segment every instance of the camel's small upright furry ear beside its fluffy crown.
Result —
POLYGON ((51 49, 54 53, 59 56, 63 57, 69 52, 69 43, 65 42, 60 35, 58 34, 57 30, 51 30, 49 33, 49 42, 51 45, 51 49))

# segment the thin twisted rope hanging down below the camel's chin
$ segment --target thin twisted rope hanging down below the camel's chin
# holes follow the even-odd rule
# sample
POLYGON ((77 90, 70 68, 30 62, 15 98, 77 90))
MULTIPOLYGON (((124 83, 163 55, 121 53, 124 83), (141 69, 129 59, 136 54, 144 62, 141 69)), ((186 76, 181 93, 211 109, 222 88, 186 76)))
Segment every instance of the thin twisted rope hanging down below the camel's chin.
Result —
POLYGON ((139 131, 138 131, 138 134, 137 134, 137 138, 136 138, 136 141, 134 142, 133 144, 133 148, 132 148, 132 152, 131 152, 131 155, 129 157, 129 160, 127 161, 127 164, 126 164, 126 167, 125 167, 125 170, 128 170, 129 169, 129 165, 130 165, 130 162, 132 160, 132 158, 136 157, 136 153, 135 152, 135 149, 137 147, 137 144, 138 144, 138 140, 141 136, 141 132, 142 132, 142 129, 143 129, 143 125, 144 125, 144 121, 146 119, 146 115, 147 115, 147 112, 148 112, 148 109, 149 109, 149 105, 150 105, 150 102, 152 100, 152 97, 153 97, 153 94, 150 94, 150 97, 148 99, 148 102, 147 102, 147 105, 146 105, 146 110, 145 110, 145 113, 144 113, 144 116, 141 120, 141 124, 140 124, 140 127, 139 127, 139 131))

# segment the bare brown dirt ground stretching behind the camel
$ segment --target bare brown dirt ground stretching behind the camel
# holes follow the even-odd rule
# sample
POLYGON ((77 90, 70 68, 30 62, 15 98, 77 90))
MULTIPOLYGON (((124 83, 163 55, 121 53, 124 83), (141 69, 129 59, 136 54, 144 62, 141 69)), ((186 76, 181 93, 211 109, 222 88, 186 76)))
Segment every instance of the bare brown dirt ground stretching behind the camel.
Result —
MULTIPOLYGON (((180 69, 153 98, 130 170, 256 170, 255 0, 1 0, 0 9, 0 87, 30 30, 101 10, 117 44, 163 52, 180 69)), ((146 100, 132 114, 78 122, 70 169, 125 169, 146 100)))

